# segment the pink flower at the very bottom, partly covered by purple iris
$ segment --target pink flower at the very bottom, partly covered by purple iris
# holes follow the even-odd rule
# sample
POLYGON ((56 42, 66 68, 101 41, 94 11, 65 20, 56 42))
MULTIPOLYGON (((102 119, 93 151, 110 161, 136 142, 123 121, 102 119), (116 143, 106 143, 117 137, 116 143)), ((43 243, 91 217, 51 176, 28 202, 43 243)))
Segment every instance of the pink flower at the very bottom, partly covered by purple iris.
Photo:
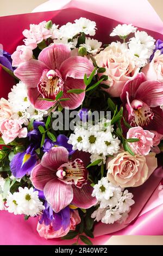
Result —
POLYGON ((59 230, 54 231, 52 224, 45 225, 44 223, 40 224, 38 222, 37 231, 39 235, 45 239, 58 238, 67 235, 70 230, 75 230, 76 225, 79 224, 80 221, 78 210, 73 210, 73 212, 71 212, 70 225, 65 230, 61 227, 59 230))

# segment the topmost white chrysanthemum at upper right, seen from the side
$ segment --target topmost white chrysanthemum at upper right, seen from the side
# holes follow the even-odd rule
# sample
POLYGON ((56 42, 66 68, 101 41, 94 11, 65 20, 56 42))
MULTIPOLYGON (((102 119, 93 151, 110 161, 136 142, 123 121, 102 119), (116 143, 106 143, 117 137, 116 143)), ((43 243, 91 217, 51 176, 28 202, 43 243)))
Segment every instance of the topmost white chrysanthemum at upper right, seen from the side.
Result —
POLYGON ((136 31, 136 27, 132 26, 132 24, 123 24, 116 26, 110 36, 118 35, 121 38, 126 38, 130 33, 134 33, 136 31))

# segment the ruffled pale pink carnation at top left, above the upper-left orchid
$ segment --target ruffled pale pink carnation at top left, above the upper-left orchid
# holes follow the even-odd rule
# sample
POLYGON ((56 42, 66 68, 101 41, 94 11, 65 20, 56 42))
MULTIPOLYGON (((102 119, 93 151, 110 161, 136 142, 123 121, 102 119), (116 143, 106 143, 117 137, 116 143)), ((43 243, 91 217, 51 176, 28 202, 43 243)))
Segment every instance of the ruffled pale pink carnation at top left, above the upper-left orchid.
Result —
POLYGON ((24 39, 24 43, 27 46, 34 48, 37 44, 42 42, 44 39, 51 37, 52 33, 50 29, 46 29, 46 21, 40 22, 38 25, 30 24, 30 29, 25 29, 23 35, 27 38, 24 39))

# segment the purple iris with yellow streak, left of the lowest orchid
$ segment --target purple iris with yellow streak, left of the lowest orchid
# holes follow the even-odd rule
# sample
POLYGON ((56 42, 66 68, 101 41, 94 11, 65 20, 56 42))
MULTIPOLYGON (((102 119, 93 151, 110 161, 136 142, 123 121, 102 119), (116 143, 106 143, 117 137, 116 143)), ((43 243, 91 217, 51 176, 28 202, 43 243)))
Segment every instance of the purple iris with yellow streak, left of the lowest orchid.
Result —
POLYGON ((16 178, 22 178, 26 174, 30 174, 37 162, 35 150, 28 147, 23 153, 17 153, 10 162, 11 173, 16 178))

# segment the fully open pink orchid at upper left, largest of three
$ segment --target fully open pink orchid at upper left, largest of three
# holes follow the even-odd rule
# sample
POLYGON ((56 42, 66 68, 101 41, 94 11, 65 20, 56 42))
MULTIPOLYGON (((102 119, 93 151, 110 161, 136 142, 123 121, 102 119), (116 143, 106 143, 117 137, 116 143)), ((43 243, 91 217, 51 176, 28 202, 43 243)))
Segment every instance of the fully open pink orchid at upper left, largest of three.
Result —
POLYGON ((28 97, 36 109, 48 109, 54 101, 40 100, 44 97, 55 100, 63 91, 62 107, 77 108, 84 100, 81 94, 67 93, 70 89, 85 89, 84 74, 90 76, 93 64, 86 57, 71 56, 71 50, 64 44, 53 44, 44 48, 38 60, 31 59, 21 63, 14 74, 28 87, 28 97))

